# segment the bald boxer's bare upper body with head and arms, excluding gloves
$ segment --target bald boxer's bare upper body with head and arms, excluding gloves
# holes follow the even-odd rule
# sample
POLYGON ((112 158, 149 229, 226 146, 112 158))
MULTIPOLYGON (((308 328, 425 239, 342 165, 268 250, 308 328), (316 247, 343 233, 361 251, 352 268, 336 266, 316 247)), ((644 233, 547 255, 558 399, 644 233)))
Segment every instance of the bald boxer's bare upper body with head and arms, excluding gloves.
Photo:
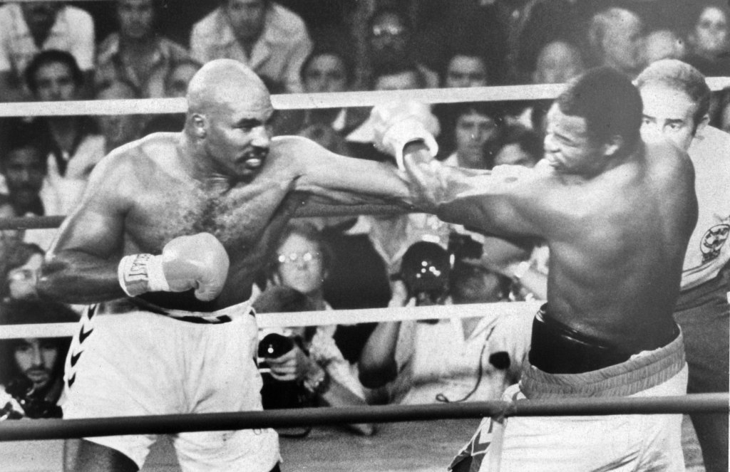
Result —
POLYGON ((263 83, 220 60, 193 77, 188 120, 177 134, 120 147, 94 169, 80 206, 61 226, 39 291, 66 303, 123 298, 123 255, 159 254, 174 237, 207 231, 231 261, 218 298, 191 292, 142 295, 165 308, 210 312, 250 298, 256 271, 307 199, 359 204, 407 200, 390 166, 345 158, 296 136, 271 138, 263 83))

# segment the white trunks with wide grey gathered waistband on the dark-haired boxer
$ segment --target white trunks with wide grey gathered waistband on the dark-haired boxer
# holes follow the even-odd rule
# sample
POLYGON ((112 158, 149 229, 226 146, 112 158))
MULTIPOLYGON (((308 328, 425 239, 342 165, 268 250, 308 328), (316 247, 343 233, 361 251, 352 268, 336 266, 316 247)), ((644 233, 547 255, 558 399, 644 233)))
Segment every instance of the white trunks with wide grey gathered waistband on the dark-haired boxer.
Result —
MULTIPOLYGON (((685 395, 683 336, 624 363, 582 374, 548 374, 525 360, 504 401, 590 396, 685 395)), ((510 417, 482 420, 450 465, 454 472, 684 472, 681 414, 510 417)))

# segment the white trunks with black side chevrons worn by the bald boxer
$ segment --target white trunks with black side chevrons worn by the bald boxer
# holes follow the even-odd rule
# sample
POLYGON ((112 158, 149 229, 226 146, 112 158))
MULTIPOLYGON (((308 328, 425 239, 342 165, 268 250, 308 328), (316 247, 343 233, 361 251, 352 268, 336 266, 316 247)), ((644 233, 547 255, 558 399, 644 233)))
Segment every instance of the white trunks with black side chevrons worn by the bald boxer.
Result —
MULTIPOLYGON (((261 410, 258 328, 249 302, 170 316, 119 313, 114 306, 90 306, 80 321, 66 359, 64 418, 261 410)), ((142 468, 156 436, 85 439, 142 468)), ((272 429, 180 433, 172 439, 183 471, 268 472, 280 461, 272 429)))

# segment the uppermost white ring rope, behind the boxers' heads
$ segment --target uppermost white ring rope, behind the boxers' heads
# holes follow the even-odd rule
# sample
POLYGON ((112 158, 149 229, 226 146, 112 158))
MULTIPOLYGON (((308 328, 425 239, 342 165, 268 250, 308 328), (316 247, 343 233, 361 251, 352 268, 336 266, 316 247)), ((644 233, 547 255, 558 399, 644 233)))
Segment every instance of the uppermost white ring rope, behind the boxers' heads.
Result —
MULTIPOLYGON (((707 77, 710 90, 730 86, 730 77, 707 77)), ((564 84, 498 85, 474 88, 424 88, 416 90, 369 90, 330 93, 286 93, 272 95, 274 109, 320 109, 373 107, 393 101, 425 104, 471 101, 548 100, 558 96, 564 84)), ((0 117, 139 115, 183 113, 185 98, 137 98, 117 100, 28 101, 0 104, 0 117)))

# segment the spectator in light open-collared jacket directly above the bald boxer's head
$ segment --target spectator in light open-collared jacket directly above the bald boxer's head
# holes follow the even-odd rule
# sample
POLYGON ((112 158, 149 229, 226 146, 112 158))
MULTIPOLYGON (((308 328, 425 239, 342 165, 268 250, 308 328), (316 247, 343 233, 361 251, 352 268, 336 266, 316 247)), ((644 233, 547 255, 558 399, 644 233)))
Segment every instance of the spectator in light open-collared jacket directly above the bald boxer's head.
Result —
POLYGON ((299 71, 312 41, 304 21, 272 0, 221 0, 193 26, 190 47, 201 63, 236 59, 289 92, 301 92, 299 71))

